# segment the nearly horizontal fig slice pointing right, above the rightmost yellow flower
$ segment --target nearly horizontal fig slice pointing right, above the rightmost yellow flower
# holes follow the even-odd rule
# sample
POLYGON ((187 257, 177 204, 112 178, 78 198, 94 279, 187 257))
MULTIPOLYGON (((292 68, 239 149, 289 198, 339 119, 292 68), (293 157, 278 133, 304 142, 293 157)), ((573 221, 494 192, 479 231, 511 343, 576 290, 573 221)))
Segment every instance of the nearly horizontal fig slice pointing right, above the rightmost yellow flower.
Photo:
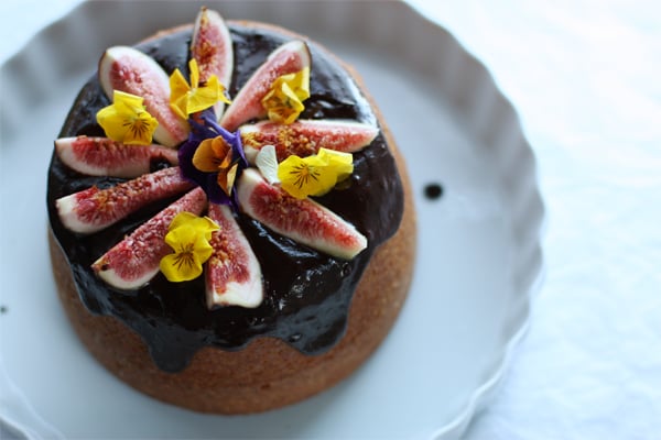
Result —
POLYGON ((375 140, 379 130, 370 124, 349 120, 297 120, 289 125, 271 121, 240 127, 246 158, 254 163, 259 150, 274 145, 278 161, 295 154, 305 157, 319 148, 355 153, 375 140))

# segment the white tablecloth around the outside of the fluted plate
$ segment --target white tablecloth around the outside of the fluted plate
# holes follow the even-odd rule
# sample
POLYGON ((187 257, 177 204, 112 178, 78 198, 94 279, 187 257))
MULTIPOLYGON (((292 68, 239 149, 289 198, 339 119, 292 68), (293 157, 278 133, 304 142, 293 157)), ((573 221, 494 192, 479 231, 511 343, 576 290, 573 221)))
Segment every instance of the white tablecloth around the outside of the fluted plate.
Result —
MULTIPOLYGON (((77 3, 3 0, 0 63, 77 3)), ((467 438, 661 439, 661 3, 412 3, 513 102, 548 207, 530 332, 467 438)))

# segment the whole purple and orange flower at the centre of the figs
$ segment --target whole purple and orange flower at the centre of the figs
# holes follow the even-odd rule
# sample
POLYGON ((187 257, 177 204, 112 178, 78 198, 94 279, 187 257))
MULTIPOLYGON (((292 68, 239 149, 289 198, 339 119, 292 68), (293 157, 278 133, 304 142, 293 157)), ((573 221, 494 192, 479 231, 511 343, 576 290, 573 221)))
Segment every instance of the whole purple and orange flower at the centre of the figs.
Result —
POLYGON ((201 186, 209 201, 237 208, 232 187, 241 169, 248 166, 240 133, 218 125, 213 109, 195 113, 188 122, 191 134, 177 153, 182 175, 201 186))

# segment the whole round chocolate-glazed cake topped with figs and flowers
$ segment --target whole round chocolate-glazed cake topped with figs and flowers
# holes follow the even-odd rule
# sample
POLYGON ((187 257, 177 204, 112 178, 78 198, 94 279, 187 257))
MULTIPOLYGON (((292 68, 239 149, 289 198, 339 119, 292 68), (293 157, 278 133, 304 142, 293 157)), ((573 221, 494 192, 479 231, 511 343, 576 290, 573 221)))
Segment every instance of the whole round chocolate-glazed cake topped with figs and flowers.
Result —
POLYGON ((347 377, 413 272, 404 161, 358 75, 206 8, 101 55, 55 141, 47 208, 80 341, 196 411, 264 411, 347 377))

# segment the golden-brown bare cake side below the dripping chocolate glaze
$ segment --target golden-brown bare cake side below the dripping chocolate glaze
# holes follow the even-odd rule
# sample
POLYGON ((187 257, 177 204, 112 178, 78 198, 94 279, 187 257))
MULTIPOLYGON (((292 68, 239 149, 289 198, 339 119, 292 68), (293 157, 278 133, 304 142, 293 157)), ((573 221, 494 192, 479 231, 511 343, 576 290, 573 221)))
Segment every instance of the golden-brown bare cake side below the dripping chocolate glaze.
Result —
MULTIPOLYGON (((273 25, 250 21, 235 23, 310 41, 273 25)), ((158 36, 174 31, 162 31, 158 36)), ((85 346, 121 381, 160 400, 197 411, 264 411, 302 400, 348 376, 369 358, 394 323, 411 284, 415 260, 416 226, 411 184, 403 157, 362 80, 351 66, 335 59, 349 72, 372 106, 404 190, 400 228, 368 264, 351 301, 346 334, 321 355, 302 354, 285 342, 268 337, 257 338, 238 351, 204 348, 184 371, 163 372, 155 366, 136 332, 113 317, 88 311, 76 292, 66 257, 50 232, 53 274, 64 309, 85 346)))

